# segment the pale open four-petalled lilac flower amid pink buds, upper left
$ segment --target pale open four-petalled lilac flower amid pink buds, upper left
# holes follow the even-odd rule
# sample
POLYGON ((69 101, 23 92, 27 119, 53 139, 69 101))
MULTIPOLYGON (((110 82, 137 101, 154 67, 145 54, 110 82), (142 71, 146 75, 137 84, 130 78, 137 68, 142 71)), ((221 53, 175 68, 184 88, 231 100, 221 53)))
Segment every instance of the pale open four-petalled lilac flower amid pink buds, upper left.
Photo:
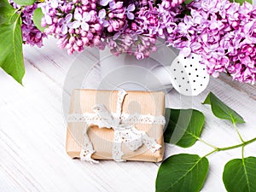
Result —
POLYGON ((90 14, 87 12, 84 12, 84 14, 80 14, 79 12, 74 13, 74 19, 75 21, 73 21, 72 23, 72 27, 74 29, 79 28, 79 26, 81 26, 81 28, 84 31, 88 31, 89 30, 89 24, 87 23, 90 20, 90 14))

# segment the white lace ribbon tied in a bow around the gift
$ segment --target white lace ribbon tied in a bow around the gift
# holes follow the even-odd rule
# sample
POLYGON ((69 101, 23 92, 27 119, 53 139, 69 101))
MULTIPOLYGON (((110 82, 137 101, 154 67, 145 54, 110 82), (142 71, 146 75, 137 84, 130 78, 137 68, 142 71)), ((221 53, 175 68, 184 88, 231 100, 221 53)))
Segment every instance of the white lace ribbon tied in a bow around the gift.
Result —
POLYGON ((116 107, 116 113, 108 112, 103 104, 96 104, 93 108, 95 113, 71 113, 68 115, 67 121, 73 122, 85 122, 84 128, 84 143, 80 152, 81 160, 87 160, 96 163, 96 160, 91 158, 91 155, 95 153, 90 138, 87 135, 87 129, 90 125, 98 125, 99 128, 113 129, 113 148, 112 157, 116 161, 122 160, 122 143, 131 151, 137 150, 143 144, 153 153, 161 148, 160 144, 156 143, 154 138, 148 137, 145 131, 138 131, 135 124, 157 124, 165 125, 166 120, 163 116, 153 116, 150 114, 141 115, 139 113, 128 114, 122 113, 122 105, 127 92, 125 90, 118 91, 118 102, 116 107))

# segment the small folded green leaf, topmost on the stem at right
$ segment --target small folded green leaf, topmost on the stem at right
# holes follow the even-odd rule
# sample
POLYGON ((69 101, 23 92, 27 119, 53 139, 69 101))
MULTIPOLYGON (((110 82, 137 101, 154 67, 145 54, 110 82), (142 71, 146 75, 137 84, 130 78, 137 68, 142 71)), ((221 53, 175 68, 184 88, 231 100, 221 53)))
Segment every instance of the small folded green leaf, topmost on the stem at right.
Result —
POLYGON ((218 99, 212 92, 210 92, 203 104, 210 104, 212 106, 212 113, 220 119, 228 119, 233 124, 245 123, 240 114, 228 107, 224 102, 218 99))

